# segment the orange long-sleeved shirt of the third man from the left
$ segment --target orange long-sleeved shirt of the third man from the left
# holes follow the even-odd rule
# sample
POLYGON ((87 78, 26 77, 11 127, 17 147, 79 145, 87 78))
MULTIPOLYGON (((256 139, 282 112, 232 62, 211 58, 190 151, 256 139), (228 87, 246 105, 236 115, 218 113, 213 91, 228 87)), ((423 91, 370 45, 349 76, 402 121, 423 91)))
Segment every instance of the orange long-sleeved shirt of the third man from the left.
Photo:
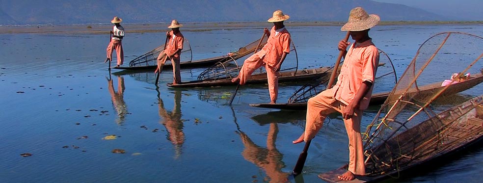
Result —
POLYGON ((280 62, 283 52, 290 53, 290 42, 292 41, 289 31, 285 27, 278 34, 275 34, 275 26, 273 26, 270 30, 267 44, 265 44, 260 52, 257 52, 260 58, 265 56, 263 62, 271 67, 274 67, 280 62))

